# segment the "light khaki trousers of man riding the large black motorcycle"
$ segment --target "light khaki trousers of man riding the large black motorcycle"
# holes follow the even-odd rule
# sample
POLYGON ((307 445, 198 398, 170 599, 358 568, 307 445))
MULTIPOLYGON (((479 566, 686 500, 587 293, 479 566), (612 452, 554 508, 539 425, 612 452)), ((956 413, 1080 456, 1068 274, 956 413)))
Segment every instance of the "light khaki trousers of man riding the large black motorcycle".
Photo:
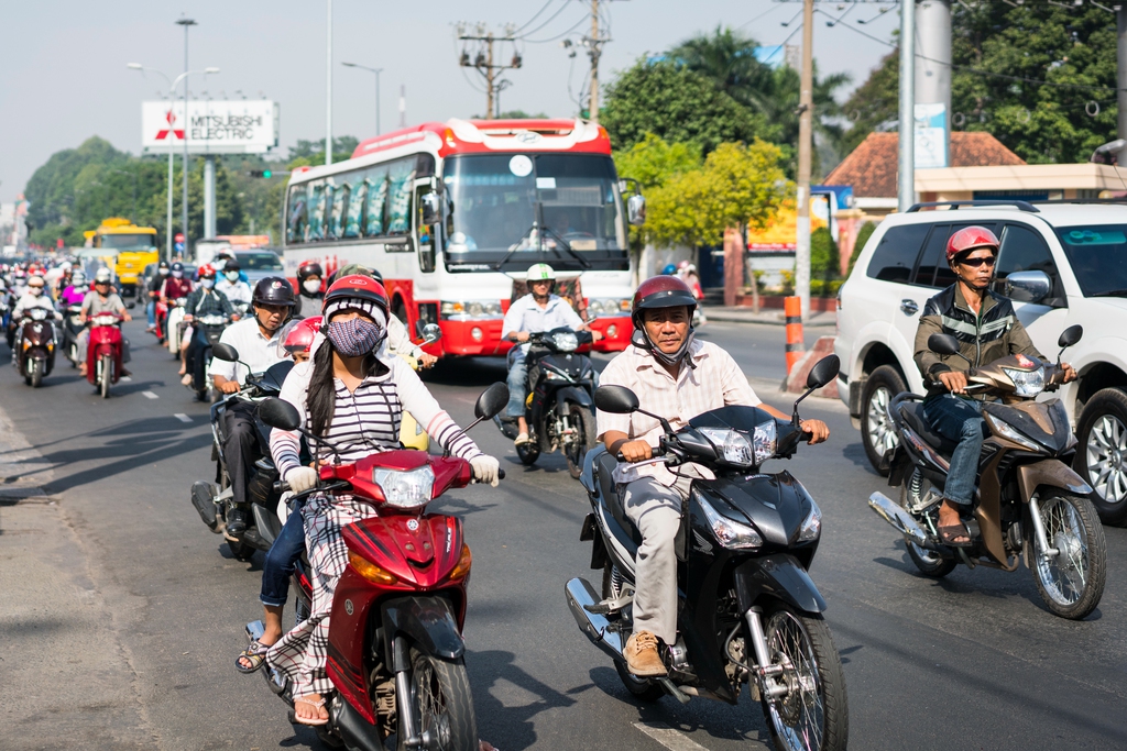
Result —
POLYGON ((692 479, 663 485, 642 477, 619 485, 627 517, 641 530, 635 574, 633 633, 648 631, 666 644, 677 641, 677 554, 681 504, 692 479))

